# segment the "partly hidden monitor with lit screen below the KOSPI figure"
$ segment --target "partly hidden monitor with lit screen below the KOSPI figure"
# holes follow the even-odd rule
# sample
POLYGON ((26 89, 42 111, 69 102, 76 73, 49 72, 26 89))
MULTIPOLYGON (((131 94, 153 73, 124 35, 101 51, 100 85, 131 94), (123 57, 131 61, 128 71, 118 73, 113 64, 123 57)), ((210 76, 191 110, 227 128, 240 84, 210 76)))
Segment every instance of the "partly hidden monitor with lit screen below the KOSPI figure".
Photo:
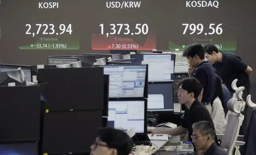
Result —
POLYGON ((77 62, 79 59, 77 57, 47 57, 48 65, 62 65, 71 64, 72 62, 77 62))

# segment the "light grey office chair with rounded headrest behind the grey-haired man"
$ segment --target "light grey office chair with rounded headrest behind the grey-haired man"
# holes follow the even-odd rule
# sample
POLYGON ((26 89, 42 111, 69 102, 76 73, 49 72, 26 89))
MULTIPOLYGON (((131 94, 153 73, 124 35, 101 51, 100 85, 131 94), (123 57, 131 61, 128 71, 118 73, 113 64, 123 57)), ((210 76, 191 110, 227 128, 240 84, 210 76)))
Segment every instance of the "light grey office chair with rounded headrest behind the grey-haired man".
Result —
MULTIPOLYGON (((240 126, 242 125, 242 121, 244 120, 244 115, 242 115, 241 112, 236 109, 236 102, 237 98, 231 98, 227 102, 227 108, 229 109, 229 111, 231 111, 231 113, 229 114, 227 127, 221 142, 221 147, 227 149, 228 155, 240 155, 239 146, 245 144, 245 142, 237 141, 240 126)), ((220 135, 217 134, 217 137, 219 138, 220 135)))

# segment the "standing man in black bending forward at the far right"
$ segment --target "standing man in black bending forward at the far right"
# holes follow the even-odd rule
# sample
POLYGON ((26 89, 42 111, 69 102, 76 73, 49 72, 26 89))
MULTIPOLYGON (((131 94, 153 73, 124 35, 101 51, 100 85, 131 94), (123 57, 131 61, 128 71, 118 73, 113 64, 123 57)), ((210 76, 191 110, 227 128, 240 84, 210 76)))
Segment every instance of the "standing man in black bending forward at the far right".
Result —
MULTIPOLYGON (((215 47, 215 45, 207 44, 205 47, 205 57, 217 70, 219 76, 223 82, 227 85, 227 89, 233 96, 235 91, 231 87, 231 83, 234 79, 238 79, 237 87, 244 86, 245 89, 242 94, 242 98, 246 100, 248 94, 250 94, 250 79, 252 75, 252 68, 242 62, 241 58, 232 52, 221 52, 215 47)), ((244 135, 246 129, 246 115, 248 106, 245 105, 242 115, 244 115, 244 121, 240 127, 239 134, 244 135)))

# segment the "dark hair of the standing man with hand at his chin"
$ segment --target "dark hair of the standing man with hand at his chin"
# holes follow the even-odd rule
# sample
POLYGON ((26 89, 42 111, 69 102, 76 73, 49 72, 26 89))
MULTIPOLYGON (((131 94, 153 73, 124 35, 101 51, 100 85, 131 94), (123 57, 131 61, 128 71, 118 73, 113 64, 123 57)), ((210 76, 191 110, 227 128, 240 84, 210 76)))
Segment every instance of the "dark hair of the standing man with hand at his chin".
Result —
POLYGON ((186 47, 182 54, 182 57, 192 57, 198 55, 201 60, 204 59, 204 47, 200 43, 193 43, 186 47))

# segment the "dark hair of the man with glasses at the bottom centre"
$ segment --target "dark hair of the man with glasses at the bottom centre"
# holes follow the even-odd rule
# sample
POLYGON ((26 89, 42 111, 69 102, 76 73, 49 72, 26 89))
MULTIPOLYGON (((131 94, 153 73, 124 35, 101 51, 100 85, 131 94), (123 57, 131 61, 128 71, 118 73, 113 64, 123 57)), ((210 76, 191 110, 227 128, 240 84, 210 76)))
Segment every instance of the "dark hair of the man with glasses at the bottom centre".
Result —
POLYGON ((98 130, 99 139, 107 143, 109 148, 117 150, 118 155, 129 155, 132 150, 132 139, 122 130, 111 127, 98 130))

